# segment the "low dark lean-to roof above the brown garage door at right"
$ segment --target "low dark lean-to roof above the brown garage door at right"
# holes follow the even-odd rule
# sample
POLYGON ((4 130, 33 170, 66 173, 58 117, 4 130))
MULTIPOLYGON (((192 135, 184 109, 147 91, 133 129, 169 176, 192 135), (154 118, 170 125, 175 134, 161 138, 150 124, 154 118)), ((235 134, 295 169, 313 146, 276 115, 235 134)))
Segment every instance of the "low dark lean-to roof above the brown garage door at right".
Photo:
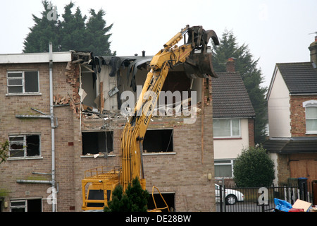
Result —
POLYGON ((317 137, 270 138, 263 148, 271 153, 317 153, 317 137))

